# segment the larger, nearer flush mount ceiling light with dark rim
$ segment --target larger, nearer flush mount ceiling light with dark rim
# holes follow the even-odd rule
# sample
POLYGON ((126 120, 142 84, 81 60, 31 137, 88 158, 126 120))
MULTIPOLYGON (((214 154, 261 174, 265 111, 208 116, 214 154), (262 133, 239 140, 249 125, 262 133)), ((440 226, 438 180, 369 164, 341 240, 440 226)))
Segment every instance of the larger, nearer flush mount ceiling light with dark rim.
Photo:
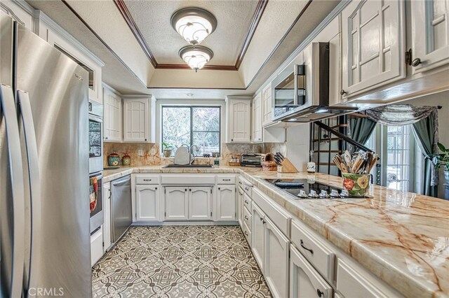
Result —
POLYGON ((188 43, 198 45, 217 27, 217 19, 208 10, 187 7, 171 16, 171 26, 188 43))

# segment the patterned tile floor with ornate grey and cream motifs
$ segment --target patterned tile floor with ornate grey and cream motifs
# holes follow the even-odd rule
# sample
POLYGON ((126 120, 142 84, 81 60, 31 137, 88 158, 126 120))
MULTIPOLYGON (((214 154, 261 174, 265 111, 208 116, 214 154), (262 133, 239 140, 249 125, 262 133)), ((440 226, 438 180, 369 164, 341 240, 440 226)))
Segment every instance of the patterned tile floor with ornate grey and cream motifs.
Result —
POLYGON ((93 297, 272 297, 238 226, 130 227, 92 283, 93 297))

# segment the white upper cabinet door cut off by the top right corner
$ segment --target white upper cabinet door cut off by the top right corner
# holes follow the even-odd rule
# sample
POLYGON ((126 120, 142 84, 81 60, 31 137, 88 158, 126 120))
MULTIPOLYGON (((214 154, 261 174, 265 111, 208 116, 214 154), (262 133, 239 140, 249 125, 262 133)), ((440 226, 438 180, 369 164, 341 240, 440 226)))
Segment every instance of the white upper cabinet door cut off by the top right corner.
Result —
POLYGON ((449 1, 410 1, 412 9, 413 73, 449 62, 449 1), (419 59, 419 60, 416 60, 419 59))

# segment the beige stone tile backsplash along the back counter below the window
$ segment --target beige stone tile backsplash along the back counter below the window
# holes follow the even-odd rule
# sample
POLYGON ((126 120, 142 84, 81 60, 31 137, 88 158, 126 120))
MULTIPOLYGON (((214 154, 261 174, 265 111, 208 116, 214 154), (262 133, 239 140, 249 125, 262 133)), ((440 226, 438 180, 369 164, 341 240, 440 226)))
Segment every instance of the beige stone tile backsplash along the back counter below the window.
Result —
MULTIPOLYGON (((107 166, 107 155, 116 152, 120 155, 130 155, 131 166, 156 166, 160 164, 173 163, 173 157, 161 157, 159 143, 103 143, 103 164, 107 166), (139 155, 139 150, 142 154, 139 155)), ((255 144, 232 144, 222 143, 222 156, 220 164, 227 165, 229 159, 239 158, 242 153, 267 153, 286 152, 285 143, 255 143, 255 144)), ((196 157, 197 164, 206 164, 208 159, 196 157)))

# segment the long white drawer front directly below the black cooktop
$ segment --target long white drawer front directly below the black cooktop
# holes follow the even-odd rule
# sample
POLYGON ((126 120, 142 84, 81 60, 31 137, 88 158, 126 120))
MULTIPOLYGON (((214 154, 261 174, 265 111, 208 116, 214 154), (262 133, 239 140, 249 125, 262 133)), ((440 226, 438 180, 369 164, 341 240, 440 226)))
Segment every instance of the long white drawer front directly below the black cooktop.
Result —
POLYGON ((269 199, 265 194, 262 194, 257 188, 253 189, 253 201, 257 206, 264 211, 265 215, 269 217, 272 222, 278 227, 281 232, 287 237, 290 236, 290 215, 276 206, 276 203, 269 199))

